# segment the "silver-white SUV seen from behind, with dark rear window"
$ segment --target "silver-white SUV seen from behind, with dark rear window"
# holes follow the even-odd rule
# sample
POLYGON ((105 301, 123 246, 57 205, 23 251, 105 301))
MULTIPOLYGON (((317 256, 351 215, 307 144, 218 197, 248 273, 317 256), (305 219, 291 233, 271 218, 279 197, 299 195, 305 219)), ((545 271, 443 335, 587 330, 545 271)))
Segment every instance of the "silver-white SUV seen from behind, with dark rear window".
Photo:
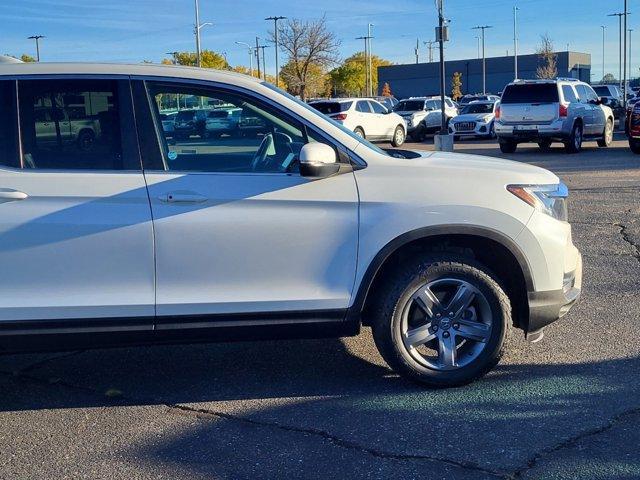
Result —
POLYGON ((503 153, 513 153, 524 142, 537 142, 542 150, 562 142, 568 153, 576 153, 585 138, 609 146, 614 119, 612 110, 584 82, 517 80, 502 94, 495 125, 503 153))

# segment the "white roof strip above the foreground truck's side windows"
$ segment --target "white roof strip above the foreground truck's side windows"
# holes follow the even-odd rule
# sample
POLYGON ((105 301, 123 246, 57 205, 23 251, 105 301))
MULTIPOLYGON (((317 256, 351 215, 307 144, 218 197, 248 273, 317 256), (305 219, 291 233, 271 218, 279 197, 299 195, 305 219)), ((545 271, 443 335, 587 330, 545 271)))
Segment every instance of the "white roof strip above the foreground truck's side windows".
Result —
POLYGON ((175 65, 116 64, 116 63, 2 63, 0 76, 21 75, 136 75, 153 77, 176 77, 252 85, 261 80, 242 73, 210 68, 183 67, 175 65))

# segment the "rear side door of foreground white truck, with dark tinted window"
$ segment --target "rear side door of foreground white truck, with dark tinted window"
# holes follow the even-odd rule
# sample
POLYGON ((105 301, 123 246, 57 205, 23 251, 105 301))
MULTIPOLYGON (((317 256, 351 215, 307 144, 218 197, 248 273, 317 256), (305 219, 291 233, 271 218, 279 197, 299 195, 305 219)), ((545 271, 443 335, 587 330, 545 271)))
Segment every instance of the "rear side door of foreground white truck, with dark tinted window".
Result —
POLYGON ((151 330, 153 225, 128 80, 0 80, 0 97, 0 324, 124 317, 151 330), (39 141, 40 112, 72 97, 100 119, 91 148, 39 141))

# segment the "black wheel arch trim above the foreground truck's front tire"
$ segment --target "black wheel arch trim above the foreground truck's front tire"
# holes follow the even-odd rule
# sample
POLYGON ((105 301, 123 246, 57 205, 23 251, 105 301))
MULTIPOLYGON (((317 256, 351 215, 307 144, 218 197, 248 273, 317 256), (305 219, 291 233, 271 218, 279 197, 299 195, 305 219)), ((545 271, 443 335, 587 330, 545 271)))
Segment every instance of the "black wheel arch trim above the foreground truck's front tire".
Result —
POLYGON ((424 252, 463 254, 486 265, 498 276, 512 301, 514 324, 526 328, 529 317, 527 293, 534 290, 526 257, 506 235, 472 225, 420 228, 388 242, 368 265, 357 286, 351 310, 361 317, 364 325, 370 324, 369 318, 378 298, 376 291, 384 286, 386 276, 405 258, 424 252))

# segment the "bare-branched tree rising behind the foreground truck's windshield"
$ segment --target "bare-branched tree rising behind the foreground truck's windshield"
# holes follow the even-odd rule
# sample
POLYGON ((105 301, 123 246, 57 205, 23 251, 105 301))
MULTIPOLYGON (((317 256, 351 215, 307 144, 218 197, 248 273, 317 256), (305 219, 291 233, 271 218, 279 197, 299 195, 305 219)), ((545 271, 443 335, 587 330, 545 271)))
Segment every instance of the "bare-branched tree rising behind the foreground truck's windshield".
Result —
MULTIPOLYGON (((290 93, 306 99, 312 80, 317 80, 319 72, 324 72, 336 63, 340 41, 327 28, 325 17, 319 20, 287 20, 278 29, 279 43, 287 53, 288 62, 282 67, 290 93)), ((274 32, 271 32, 275 41, 274 32)), ((323 78, 324 83, 324 78, 323 78)))

